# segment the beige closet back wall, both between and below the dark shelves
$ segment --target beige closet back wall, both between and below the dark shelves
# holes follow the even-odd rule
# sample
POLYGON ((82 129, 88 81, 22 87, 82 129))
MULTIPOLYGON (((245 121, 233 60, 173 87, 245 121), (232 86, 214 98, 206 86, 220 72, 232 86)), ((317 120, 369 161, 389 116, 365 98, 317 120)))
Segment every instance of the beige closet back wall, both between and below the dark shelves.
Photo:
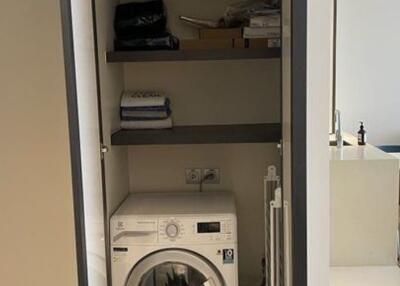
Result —
MULTIPOLYGON (((125 65, 125 88, 166 91, 175 125, 280 122, 278 60, 125 65), (223 112, 221 112, 223 111, 223 112)), ((280 164, 276 144, 130 147, 131 191, 196 190, 185 168, 217 167, 238 200, 239 278, 257 285, 264 252, 263 175, 280 164)))

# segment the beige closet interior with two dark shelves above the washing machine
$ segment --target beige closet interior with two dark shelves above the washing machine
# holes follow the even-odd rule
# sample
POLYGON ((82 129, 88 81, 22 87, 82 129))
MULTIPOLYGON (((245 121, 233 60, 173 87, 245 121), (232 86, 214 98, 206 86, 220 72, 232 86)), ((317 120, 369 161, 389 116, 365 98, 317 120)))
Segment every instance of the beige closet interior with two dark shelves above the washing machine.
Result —
MULTIPOLYGON (((228 50, 223 56, 208 53, 209 58, 201 52, 201 60, 198 53, 115 53, 114 10, 124 2, 130 1, 95 1, 103 140, 109 148, 104 159, 107 216, 129 193, 198 192, 198 185, 186 184, 185 170, 218 168, 219 184, 204 185, 203 191, 234 194, 240 285, 261 285, 263 180, 268 166, 281 166, 279 52, 228 50), (121 131, 120 99, 126 90, 164 92, 176 131, 121 131)), ((171 33, 192 39, 197 30, 182 24, 179 15, 216 19, 237 0, 164 2, 171 33)))

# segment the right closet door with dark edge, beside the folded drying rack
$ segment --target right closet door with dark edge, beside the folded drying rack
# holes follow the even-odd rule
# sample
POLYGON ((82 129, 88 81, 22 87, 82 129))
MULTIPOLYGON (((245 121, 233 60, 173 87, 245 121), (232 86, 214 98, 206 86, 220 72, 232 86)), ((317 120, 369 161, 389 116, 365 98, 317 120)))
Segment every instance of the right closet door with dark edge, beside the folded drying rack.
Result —
POLYGON ((282 0, 285 285, 307 285, 307 1, 282 0))

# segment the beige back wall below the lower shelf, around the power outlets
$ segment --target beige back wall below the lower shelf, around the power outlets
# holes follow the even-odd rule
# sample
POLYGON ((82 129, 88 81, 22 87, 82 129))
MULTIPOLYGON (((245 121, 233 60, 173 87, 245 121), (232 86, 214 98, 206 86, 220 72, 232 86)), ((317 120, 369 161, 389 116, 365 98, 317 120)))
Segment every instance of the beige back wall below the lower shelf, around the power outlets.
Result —
POLYGON ((239 229, 240 285, 258 285, 264 252, 263 176, 279 167, 275 144, 178 145, 130 148, 131 191, 198 191, 185 184, 185 168, 218 167, 219 185, 204 191, 235 194, 239 229))

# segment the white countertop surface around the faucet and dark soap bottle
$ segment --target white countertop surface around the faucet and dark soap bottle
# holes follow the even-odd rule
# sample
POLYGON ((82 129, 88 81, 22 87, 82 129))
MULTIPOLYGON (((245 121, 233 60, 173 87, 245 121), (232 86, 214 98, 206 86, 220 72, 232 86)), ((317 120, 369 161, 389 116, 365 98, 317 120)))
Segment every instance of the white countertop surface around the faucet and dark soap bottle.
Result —
MULTIPOLYGON (((329 136, 329 139, 331 141, 335 140, 335 135, 331 134, 329 136)), ((370 144, 367 144, 365 146, 359 146, 357 143, 357 138, 348 133, 343 134, 343 140, 350 143, 351 146, 343 146, 342 148, 337 148, 336 146, 330 146, 329 152, 331 161, 399 160, 400 158, 400 154, 396 158, 392 154, 385 153, 382 150, 370 144)))

